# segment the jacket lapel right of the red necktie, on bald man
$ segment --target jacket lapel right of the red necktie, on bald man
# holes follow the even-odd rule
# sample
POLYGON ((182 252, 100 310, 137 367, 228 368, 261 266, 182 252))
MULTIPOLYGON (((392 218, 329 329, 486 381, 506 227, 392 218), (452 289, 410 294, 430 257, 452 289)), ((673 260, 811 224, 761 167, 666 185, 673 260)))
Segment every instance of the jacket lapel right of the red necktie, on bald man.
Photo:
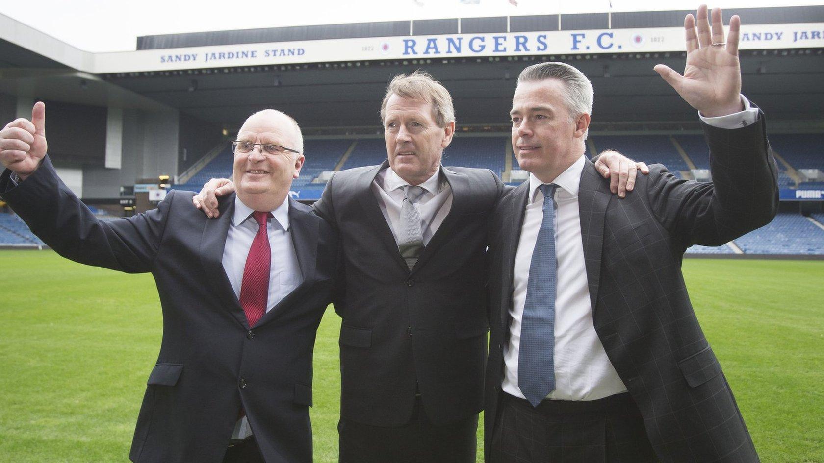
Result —
POLYGON ((268 323, 279 315, 283 308, 293 303, 297 298, 315 283, 317 265, 318 227, 317 217, 312 217, 311 208, 298 203, 292 198, 289 201, 289 236, 297 255, 297 264, 300 266, 302 283, 297 285, 283 299, 264 314, 255 328, 268 323))

